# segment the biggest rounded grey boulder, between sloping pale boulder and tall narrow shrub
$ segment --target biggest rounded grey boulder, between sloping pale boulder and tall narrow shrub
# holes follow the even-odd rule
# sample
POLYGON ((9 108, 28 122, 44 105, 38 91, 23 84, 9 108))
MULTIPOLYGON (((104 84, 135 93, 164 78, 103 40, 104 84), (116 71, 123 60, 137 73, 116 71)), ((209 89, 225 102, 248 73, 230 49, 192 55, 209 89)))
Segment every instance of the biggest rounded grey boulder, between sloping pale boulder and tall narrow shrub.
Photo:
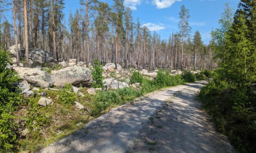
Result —
POLYGON ((51 72, 54 85, 62 86, 71 83, 75 87, 91 87, 92 76, 89 68, 70 66, 58 71, 51 72))

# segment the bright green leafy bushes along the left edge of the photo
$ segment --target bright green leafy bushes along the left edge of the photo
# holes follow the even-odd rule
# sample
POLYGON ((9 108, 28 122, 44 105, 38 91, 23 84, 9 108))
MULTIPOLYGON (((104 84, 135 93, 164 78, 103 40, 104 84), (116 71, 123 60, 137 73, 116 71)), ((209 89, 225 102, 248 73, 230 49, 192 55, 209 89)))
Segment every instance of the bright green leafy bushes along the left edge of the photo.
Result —
POLYGON ((15 71, 6 68, 9 55, 0 50, 0 152, 13 152, 17 144, 17 126, 13 111, 22 103, 22 95, 12 85, 19 81, 15 71))

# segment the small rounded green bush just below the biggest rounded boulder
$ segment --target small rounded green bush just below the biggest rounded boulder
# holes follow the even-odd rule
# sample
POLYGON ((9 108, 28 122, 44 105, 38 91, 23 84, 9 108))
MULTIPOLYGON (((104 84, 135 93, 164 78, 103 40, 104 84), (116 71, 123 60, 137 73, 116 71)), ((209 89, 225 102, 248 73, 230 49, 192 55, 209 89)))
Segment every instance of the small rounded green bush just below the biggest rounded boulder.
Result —
POLYGON ((60 91, 59 102, 63 104, 72 104, 76 100, 77 96, 73 92, 73 87, 70 83, 64 85, 60 91))

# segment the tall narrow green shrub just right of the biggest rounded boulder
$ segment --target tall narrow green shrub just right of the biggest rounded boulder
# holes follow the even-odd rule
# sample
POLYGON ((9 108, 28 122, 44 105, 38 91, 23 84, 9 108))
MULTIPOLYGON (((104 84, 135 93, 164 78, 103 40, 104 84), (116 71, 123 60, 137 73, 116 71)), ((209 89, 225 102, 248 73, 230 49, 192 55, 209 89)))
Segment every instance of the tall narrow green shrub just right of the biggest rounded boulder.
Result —
POLYGON ((93 79, 92 87, 100 87, 100 88, 104 87, 103 85, 104 77, 102 76, 103 71, 104 69, 102 68, 101 63, 98 60, 95 60, 93 65, 93 70, 91 71, 92 79, 93 79))

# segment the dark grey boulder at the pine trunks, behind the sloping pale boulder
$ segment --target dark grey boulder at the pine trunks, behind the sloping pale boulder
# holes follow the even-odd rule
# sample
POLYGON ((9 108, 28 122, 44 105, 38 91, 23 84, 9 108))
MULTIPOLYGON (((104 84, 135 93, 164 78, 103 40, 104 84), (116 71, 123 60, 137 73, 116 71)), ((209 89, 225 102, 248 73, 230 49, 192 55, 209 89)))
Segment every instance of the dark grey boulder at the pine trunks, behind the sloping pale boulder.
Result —
POLYGON ((35 65, 42 65, 53 60, 51 52, 42 49, 36 49, 29 52, 29 58, 33 60, 35 65))

